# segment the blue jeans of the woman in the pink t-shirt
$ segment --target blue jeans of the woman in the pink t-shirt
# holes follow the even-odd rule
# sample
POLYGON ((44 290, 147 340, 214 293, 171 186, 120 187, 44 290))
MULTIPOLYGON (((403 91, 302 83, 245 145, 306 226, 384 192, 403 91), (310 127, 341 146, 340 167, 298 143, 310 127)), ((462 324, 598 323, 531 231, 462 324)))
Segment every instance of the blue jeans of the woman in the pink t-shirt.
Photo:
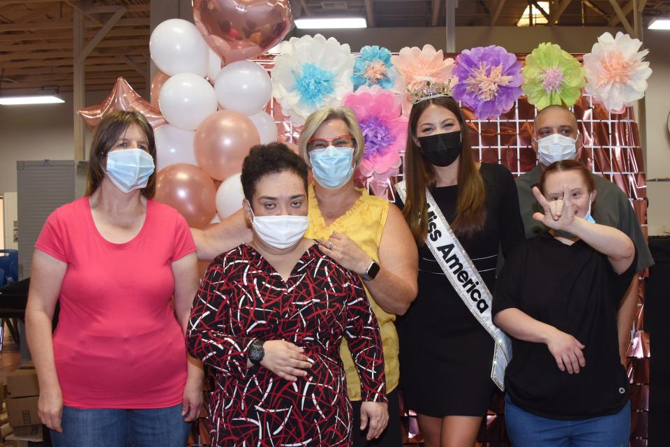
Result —
POLYGON ((181 404, 158 409, 63 407, 63 432, 51 432, 54 447, 184 447, 191 423, 181 404))

